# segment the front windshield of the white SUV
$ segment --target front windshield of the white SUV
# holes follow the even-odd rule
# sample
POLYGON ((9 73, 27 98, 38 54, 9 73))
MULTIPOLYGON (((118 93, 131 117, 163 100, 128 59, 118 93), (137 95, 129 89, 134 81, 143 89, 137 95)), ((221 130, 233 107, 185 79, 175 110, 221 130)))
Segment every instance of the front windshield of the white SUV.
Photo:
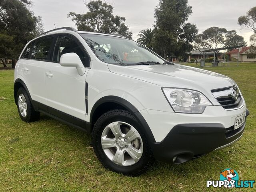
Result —
POLYGON ((139 43, 114 36, 81 34, 103 62, 117 65, 163 64, 165 61, 139 43))

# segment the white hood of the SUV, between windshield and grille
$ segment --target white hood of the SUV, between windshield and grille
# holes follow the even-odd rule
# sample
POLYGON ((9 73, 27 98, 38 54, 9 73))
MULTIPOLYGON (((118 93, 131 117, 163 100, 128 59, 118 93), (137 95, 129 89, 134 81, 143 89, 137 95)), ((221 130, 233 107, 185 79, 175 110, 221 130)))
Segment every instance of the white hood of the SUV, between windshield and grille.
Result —
POLYGON ((140 79, 162 87, 189 88, 199 91, 233 86, 231 78, 199 68, 174 65, 118 66, 108 64, 111 72, 140 79))

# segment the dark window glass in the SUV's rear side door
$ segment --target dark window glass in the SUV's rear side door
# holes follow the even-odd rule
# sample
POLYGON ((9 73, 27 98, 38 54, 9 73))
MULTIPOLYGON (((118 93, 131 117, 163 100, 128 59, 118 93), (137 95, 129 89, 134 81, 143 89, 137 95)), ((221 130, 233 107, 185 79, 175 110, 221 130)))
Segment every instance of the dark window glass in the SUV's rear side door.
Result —
POLYGON ((47 37, 36 41, 33 46, 31 59, 50 60, 50 48, 54 37, 47 37))

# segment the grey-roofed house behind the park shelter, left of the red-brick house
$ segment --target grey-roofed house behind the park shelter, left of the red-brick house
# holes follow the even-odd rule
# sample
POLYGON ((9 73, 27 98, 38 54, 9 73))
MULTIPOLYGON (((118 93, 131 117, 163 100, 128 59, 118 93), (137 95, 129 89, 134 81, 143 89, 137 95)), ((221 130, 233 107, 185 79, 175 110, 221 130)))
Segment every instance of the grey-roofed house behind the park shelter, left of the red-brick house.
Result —
MULTIPOLYGON (((203 48, 199 48, 199 49, 196 49, 196 50, 193 50, 193 51, 190 51, 190 52, 187 52, 189 54, 188 56, 188 62, 190 62, 190 59, 197 59, 198 62, 204 58, 204 53, 202 52, 203 50, 207 50, 207 49, 203 49, 203 48)), ((222 59, 222 55, 223 53, 222 52, 217 52, 216 53, 216 56, 218 59, 222 59)), ((214 57, 214 52, 213 51, 210 51, 210 52, 206 52, 205 53, 205 58, 208 59, 210 57, 214 57)))

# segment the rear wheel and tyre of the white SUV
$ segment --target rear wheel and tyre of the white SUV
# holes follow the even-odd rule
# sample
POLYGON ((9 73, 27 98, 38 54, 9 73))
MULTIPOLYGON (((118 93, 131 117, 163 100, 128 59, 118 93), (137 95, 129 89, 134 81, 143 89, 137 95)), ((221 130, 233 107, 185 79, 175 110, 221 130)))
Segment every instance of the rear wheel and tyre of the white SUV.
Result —
POLYGON ((24 88, 21 87, 18 89, 16 99, 18 112, 22 121, 29 123, 40 119, 40 112, 34 110, 24 88))

